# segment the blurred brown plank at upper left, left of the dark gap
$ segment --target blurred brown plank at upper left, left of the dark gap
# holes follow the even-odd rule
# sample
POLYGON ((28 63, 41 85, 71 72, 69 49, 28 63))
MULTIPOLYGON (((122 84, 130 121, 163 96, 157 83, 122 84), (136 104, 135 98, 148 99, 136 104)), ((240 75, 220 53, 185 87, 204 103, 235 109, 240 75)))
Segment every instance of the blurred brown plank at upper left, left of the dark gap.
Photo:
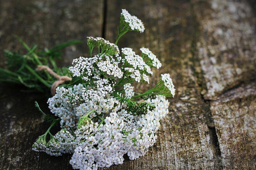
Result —
MULTIPOLYGON (((86 40, 102 35, 103 0, 76 1, 0 1, 0 54, 3 50, 26 53, 15 35, 29 46, 51 48, 71 39, 86 40)), ((85 44, 65 49, 62 65, 70 65, 75 57, 89 55, 85 44)), ((0 63, 1 64, 1 63, 0 63)))

